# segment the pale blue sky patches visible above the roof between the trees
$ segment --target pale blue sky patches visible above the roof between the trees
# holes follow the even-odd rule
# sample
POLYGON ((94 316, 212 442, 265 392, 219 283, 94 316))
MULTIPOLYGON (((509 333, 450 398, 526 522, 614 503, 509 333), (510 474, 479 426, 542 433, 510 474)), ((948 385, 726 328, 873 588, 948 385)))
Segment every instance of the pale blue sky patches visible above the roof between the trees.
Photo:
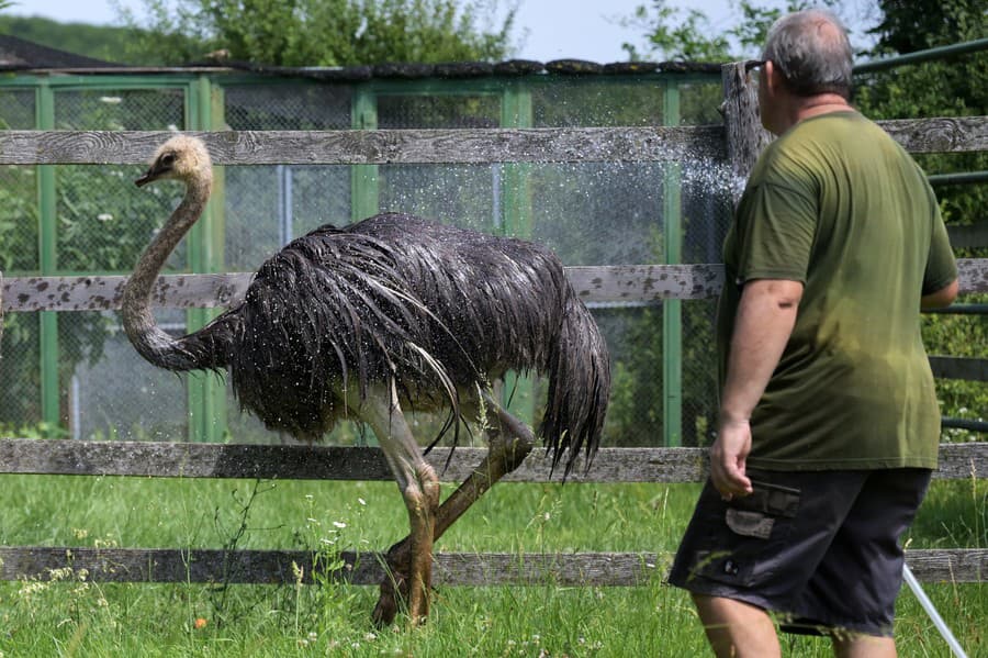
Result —
MULTIPOLYGON (((117 23, 112 0, 14 0, 5 13, 41 15, 61 22, 94 24, 117 23)), ((139 0, 119 0, 135 11, 139 0)), ((501 1, 506 4, 505 0, 501 1)), ((536 62, 553 59, 586 59, 607 64, 625 62, 624 42, 642 45, 641 30, 621 27, 620 19, 635 14, 636 7, 651 4, 649 0, 521 0, 517 15, 515 42, 521 48, 517 57, 536 62)), ((671 2, 672 4, 672 2, 671 2)), ((783 5, 766 1, 762 4, 783 5)), ((737 2, 731 0, 685 0, 683 7, 704 11, 715 32, 733 24, 738 15, 737 2)))

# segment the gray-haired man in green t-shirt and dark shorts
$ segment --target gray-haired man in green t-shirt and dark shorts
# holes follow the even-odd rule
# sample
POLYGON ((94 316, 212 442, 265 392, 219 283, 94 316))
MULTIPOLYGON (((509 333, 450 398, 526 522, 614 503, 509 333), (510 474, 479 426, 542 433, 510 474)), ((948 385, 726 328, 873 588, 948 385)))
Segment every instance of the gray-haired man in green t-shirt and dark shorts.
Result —
POLYGON ((778 656, 767 611, 838 656, 895 656, 899 537, 940 437, 919 311, 953 302, 956 264, 922 171, 847 102, 840 22, 783 16, 763 59, 779 138, 725 242, 720 422, 670 582, 718 656, 778 656))

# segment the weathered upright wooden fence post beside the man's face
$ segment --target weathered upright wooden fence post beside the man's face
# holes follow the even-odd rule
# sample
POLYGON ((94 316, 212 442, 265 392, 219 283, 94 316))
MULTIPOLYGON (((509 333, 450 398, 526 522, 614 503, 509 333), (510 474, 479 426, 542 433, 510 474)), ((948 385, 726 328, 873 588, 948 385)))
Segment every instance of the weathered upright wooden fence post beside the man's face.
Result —
POLYGON ((750 83, 748 76, 746 62, 720 67, 728 163, 734 176, 731 190, 734 205, 741 199, 744 182, 759 159, 759 154, 773 140, 772 134, 762 127, 757 89, 750 83))

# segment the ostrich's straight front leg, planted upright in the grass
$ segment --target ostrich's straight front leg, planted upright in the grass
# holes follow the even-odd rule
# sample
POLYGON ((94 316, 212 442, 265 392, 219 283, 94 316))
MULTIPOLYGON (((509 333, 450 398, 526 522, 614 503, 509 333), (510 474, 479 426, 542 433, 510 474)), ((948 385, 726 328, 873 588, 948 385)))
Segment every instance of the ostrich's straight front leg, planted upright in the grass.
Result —
MULTIPOLYGON (((407 537, 408 615, 412 625, 429 614, 429 585, 433 579, 433 537, 439 508, 439 479, 425 460, 398 404, 394 381, 386 395, 368 395, 360 416, 370 424, 408 510, 407 537), (385 402, 386 400, 386 402, 385 402)), ((383 391, 378 391, 382 393, 383 391)), ((391 615, 394 618, 394 614, 391 615)))

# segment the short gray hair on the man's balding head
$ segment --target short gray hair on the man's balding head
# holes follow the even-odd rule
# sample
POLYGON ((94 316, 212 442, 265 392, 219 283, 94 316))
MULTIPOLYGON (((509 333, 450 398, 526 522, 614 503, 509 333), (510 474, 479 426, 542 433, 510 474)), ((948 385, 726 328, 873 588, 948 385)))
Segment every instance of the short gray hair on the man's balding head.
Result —
POLYGON ((808 9, 784 15, 768 29, 762 59, 771 59, 797 96, 851 97, 851 42, 831 12, 808 9))

